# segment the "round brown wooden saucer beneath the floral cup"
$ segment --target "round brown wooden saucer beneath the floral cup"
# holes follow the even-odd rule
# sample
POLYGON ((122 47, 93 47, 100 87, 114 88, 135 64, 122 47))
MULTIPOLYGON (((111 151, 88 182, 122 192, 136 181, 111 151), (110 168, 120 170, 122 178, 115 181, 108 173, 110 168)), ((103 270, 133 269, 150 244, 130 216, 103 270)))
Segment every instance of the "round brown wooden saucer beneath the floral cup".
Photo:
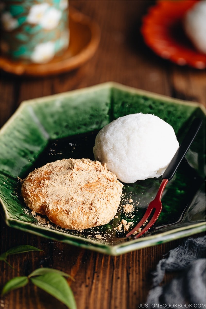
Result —
POLYGON ((74 70, 89 60, 100 41, 99 26, 87 16, 69 7, 70 41, 68 49, 46 64, 23 63, 0 57, 0 68, 8 73, 47 76, 74 70))

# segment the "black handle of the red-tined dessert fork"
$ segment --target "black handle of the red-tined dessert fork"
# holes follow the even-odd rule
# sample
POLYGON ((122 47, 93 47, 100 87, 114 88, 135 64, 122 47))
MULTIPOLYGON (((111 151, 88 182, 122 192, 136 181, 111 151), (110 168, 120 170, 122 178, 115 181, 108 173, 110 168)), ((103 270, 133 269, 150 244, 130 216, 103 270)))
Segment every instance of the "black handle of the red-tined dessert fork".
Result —
POLYGON ((182 159, 186 155, 187 150, 189 149, 189 147, 190 147, 191 143, 193 142, 197 132, 199 131, 201 124, 202 124, 202 120, 200 118, 195 118, 192 121, 192 124, 191 124, 185 138, 183 139, 183 142, 179 146, 174 157, 170 161, 170 164, 168 165, 165 172, 163 173, 163 175, 162 175, 163 179, 168 179, 168 180, 172 179, 177 168, 179 167, 180 162, 182 161, 182 159))

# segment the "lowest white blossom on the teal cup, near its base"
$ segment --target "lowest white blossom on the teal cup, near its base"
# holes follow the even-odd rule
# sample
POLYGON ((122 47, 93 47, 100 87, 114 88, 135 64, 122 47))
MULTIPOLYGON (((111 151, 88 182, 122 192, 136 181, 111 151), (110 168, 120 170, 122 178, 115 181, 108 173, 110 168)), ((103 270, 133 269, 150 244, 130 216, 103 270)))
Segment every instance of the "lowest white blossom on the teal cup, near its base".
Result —
POLYGON ((34 48, 31 60, 35 63, 46 63, 54 57, 54 53, 54 42, 48 41, 46 43, 40 43, 34 48))

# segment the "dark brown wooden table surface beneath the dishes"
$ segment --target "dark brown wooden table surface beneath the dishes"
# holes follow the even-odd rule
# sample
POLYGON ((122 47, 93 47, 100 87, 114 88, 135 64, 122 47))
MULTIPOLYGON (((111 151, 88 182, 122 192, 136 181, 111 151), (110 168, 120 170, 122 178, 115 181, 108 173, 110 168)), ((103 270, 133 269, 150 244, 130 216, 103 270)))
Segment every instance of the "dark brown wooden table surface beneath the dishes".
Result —
MULTIPOLYGON (((204 70, 180 67, 156 56, 143 43, 139 27, 150 1, 70 0, 70 5, 100 26, 95 55, 78 70, 45 78, 1 76, 1 125, 23 100, 53 95, 107 81, 153 91, 205 105, 204 70)), ((195 237, 196 235, 194 235, 195 237)), ((25 275, 44 266, 71 274, 69 281, 78 309, 132 309, 145 302, 151 271, 163 254, 182 240, 140 249, 122 256, 107 256, 7 227, 1 223, 1 252, 30 244, 44 252, 10 256, 8 261, 25 275)), ((15 276, 4 262, 1 283, 15 276)), ((170 280, 167 275, 164 282, 170 280)), ((6 309, 61 309, 66 306, 32 286, 12 291, 1 300, 6 309)))

